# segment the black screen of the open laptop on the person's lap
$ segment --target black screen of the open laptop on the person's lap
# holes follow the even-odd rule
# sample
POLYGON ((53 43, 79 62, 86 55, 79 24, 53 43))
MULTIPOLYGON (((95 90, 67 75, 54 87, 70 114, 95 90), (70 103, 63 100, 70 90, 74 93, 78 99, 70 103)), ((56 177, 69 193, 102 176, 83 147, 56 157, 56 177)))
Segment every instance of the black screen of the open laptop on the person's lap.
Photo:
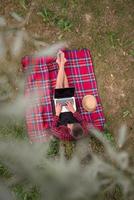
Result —
POLYGON ((58 88, 55 89, 55 99, 67 98, 74 96, 75 88, 58 88))

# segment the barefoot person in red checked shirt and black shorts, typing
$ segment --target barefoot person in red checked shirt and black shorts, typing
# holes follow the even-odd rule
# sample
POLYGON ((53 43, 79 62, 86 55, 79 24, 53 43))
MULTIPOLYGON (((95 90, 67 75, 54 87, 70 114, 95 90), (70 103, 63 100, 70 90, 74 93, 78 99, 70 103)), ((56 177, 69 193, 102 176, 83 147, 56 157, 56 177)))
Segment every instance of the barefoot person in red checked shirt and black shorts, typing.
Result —
MULTIPOLYGON (((68 88, 68 79, 64 71, 66 58, 62 51, 59 52, 56 62, 59 65, 59 71, 56 80, 57 88, 68 88)), ((82 136, 87 136, 89 131, 89 123, 82 119, 79 112, 75 111, 71 102, 67 102, 68 113, 62 113, 62 105, 57 103, 55 106, 55 115, 53 117, 52 134, 61 140, 75 140, 82 136), (69 115, 68 115, 69 114, 69 115), (68 115, 68 116, 67 116, 68 115), (73 119, 73 123, 68 123, 67 117, 73 119)))

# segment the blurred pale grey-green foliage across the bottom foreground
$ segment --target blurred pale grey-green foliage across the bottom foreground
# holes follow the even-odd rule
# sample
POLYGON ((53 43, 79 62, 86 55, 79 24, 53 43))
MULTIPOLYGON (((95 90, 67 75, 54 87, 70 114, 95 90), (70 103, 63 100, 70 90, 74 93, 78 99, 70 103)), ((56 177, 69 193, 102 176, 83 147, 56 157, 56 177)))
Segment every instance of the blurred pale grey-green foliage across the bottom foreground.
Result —
MULTIPOLYGON (((123 128, 120 134, 122 131, 124 131, 123 128)), ((41 199, 47 196, 47 199, 58 200, 60 194, 62 200, 85 200, 92 199, 93 196, 99 200, 100 195, 104 196, 119 186, 124 199, 132 199, 134 176, 133 168, 129 165, 127 152, 113 149, 107 139, 96 130, 93 129, 91 133, 103 144, 105 160, 103 156, 89 152, 89 162, 85 162, 85 164, 82 162, 82 165, 81 161, 85 155, 80 158, 75 154, 71 159, 66 160, 64 154, 60 152, 57 159, 49 159, 48 155, 44 154, 47 151, 46 145, 29 146, 28 143, 22 141, 12 140, 11 143, 8 140, 2 140, 0 142, 0 156, 4 155, 4 163, 13 174, 15 173, 16 186, 14 191, 18 198, 38 199, 40 193, 41 199), (39 190, 33 189, 34 186, 28 186, 27 188, 31 189, 25 190, 22 187, 23 184, 19 185, 23 182, 26 186, 32 183, 39 190), (40 192, 38 193, 38 191, 40 192)), ((83 145, 87 144, 83 143, 83 145)), ((79 147, 78 145, 78 152, 79 147)))

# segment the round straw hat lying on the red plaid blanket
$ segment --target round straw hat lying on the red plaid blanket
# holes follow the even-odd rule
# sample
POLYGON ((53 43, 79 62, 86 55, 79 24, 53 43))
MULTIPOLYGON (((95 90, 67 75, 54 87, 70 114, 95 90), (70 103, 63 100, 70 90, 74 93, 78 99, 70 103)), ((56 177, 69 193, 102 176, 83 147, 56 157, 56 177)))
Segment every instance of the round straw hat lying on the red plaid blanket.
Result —
POLYGON ((82 106, 83 108, 88 111, 92 112, 96 109, 97 101, 96 98, 93 95, 86 95, 82 99, 82 106))

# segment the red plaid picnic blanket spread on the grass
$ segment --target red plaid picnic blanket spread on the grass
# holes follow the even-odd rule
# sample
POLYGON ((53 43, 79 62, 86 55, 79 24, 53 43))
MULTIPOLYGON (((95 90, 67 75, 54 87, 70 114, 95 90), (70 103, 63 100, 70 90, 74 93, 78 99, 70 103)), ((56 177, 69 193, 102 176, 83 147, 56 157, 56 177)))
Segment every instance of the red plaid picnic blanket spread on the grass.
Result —
MULTIPOLYGON (((105 117, 98 94, 93 63, 90 51, 64 50, 67 63, 65 71, 70 87, 75 87, 75 99, 78 111, 82 118, 92 122, 99 130, 103 130, 105 117), (97 99, 97 108, 94 112, 86 112, 82 108, 82 98, 92 94, 97 99)), ((58 66, 54 57, 22 58, 23 70, 27 73, 25 94, 34 100, 26 111, 28 135, 31 141, 43 142, 49 136, 53 116, 53 92, 56 83, 58 66)))

